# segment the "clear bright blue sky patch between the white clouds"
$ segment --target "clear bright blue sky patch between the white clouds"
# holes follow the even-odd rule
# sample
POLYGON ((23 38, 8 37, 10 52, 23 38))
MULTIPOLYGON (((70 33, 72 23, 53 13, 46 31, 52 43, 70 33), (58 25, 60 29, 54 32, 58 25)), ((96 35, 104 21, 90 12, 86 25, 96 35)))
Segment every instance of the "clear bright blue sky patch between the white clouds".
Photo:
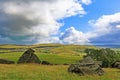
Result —
POLYGON ((111 15, 120 12, 119 3, 120 0, 92 0, 92 4, 83 5, 87 12, 86 15, 83 17, 73 16, 62 20, 62 22, 66 23, 63 30, 69 26, 74 26, 77 30, 87 32, 87 30, 91 30, 91 26, 88 24, 89 20, 98 19, 102 15, 111 15))

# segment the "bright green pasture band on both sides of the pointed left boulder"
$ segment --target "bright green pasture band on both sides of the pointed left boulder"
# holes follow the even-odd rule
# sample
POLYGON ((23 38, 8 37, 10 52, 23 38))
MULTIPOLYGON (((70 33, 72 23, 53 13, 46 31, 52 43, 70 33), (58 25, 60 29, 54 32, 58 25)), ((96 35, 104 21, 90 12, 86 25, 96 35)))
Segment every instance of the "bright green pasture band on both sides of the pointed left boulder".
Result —
MULTIPOLYGON (((5 53, 5 54, 0 54, 0 58, 2 59, 8 59, 17 62, 19 57, 23 54, 23 52, 12 52, 12 53, 5 53)), ((81 56, 64 56, 63 54, 45 54, 45 53, 37 53, 36 54, 41 61, 48 61, 52 64, 72 64, 80 59, 82 59, 81 56)))

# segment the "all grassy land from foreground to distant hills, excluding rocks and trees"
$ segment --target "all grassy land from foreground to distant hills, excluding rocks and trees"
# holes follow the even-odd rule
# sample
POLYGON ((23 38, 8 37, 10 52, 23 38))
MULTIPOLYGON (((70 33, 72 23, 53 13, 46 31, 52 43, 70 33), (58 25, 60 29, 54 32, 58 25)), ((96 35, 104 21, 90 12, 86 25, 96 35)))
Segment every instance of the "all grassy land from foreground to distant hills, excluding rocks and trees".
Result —
POLYGON ((27 48, 33 48, 41 61, 52 64, 0 64, 0 80, 120 80, 120 70, 104 68, 103 76, 80 76, 67 71, 69 65, 83 58, 84 49, 94 46, 39 44, 0 45, 0 58, 17 62, 27 48))

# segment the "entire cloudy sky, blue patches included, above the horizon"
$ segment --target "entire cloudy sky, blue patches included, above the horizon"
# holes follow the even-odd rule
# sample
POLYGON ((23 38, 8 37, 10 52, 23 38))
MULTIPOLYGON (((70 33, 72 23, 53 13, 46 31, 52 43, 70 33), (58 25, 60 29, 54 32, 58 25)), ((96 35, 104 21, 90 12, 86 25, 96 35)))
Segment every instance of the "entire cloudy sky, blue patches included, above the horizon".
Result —
POLYGON ((0 0, 0 44, 120 44, 120 0, 0 0))

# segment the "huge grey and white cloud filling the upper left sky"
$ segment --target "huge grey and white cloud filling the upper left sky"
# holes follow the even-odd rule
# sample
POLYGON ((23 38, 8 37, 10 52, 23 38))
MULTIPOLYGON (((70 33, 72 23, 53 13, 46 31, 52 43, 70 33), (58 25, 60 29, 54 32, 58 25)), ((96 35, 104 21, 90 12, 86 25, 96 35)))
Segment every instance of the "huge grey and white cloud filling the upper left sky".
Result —
POLYGON ((0 5, 0 34, 9 38, 46 39, 58 33, 58 20, 86 14, 78 0, 1 0, 0 5))

